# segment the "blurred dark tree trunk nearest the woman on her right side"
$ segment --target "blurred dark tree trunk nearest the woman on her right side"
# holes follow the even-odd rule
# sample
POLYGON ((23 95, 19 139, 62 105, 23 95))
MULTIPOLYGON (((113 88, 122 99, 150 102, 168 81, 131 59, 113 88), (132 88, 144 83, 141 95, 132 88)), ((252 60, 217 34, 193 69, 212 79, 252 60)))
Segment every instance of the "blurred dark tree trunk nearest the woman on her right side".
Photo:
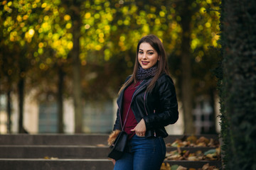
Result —
POLYGON ((192 84, 191 84, 191 3, 193 1, 183 1, 181 10, 181 101, 184 115, 184 133, 193 134, 195 128, 192 115, 192 84))

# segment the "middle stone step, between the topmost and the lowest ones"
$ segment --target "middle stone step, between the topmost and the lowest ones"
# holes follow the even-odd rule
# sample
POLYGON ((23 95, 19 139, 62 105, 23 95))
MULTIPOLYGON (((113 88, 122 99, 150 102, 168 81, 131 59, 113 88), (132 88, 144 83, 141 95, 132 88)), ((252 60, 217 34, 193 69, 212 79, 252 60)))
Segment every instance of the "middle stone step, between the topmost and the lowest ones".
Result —
MULTIPOLYGON (((198 150, 206 152, 211 147, 182 147, 181 151, 188 150, 193 153, 198 150)), ((171 152, 176 147, 167 147, 171 152)), ((58 159, 106 159, 109 147, 95 146, 56 146, 56 145, 0 145, 0 158, 38 159, 56 157, 58 159)))

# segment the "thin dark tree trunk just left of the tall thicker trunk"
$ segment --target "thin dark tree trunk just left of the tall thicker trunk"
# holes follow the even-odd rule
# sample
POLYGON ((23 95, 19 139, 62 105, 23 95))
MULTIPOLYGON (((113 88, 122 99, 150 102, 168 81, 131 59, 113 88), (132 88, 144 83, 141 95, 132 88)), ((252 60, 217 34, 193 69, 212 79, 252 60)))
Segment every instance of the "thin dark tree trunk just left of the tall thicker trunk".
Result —
POLYGON ((57 103, 58 103, 58 132, 63 133, 64 126, 63 126, 63 79, 64 79, 64 72, 62 66, 59 66, 58 70, 58 96, 57 96, 57 103))

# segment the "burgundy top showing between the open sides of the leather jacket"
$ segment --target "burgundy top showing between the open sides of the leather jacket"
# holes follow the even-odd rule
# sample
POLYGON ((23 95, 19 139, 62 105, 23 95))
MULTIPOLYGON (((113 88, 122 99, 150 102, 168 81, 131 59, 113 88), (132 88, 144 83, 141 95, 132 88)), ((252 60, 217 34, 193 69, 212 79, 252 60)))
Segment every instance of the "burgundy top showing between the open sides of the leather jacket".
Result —
POLYGON ((134 94, 134 91, 137 89, 137 86, 139 86, 140 81, 137 81, 137 83, 131 84, 125 89, 124 91, 124 98, 123 98, 123 113, 122 113, 122 125, 124 125, 124 120, 127 116, 127 112, 129 109, 129 113, 127 116, 127 123, 124 125, 124 131, 127 132, 129 139, 131 139, 135 132, 131 132, 133 128, 138 124, 137 120, 135 119, 134 113, 132 112, 132 108, 130 107, 130 104, 132 102, 132 95, 134 94))

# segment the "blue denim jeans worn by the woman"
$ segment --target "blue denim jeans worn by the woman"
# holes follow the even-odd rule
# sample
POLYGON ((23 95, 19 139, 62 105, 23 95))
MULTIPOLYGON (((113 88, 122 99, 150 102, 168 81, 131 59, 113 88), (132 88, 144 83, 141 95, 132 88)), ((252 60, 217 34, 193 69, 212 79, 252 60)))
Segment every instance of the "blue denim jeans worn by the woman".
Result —
POLYGON ((124 152, 114 165, 114 170, 159 170, 166 155, 162 137, 138 137, 128 142, 130 152, 124 152))

